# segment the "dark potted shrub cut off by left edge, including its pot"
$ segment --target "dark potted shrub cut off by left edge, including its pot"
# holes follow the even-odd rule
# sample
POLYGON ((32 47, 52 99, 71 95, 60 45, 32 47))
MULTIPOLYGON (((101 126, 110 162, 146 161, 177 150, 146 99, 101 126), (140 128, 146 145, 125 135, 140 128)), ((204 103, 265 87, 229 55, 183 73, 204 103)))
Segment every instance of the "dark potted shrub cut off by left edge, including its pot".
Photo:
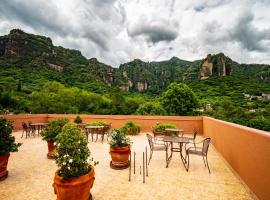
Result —
POLYGON ((7 164, 10 152, 18 151, 21 143, 15 143, 12 136, 12 122, 5 118, 0 118, 0 181, 8 176, 7 164))

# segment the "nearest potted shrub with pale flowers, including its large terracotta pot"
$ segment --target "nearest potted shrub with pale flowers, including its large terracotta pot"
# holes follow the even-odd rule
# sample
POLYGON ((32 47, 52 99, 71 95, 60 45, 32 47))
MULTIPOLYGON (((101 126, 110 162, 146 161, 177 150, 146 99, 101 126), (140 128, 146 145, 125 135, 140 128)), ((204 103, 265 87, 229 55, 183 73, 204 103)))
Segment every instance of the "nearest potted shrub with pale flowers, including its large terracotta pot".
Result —
POLYGON ((66 124, 56 136, 59 169, 55 172, 53 187, 58 200, 91 199, 95 172, 87 143, 85 134, 75 124, 66 124))

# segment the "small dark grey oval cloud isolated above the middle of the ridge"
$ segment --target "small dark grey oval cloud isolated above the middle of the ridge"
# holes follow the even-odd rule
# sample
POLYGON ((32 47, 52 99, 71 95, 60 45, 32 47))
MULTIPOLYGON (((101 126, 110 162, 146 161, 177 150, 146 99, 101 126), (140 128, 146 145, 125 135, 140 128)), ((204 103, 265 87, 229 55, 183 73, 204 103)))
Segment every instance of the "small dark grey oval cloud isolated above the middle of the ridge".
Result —
POLYGON ((138 24, 135 27, 128 29, 128 34, 131 37, 146 36, 151 42, 157 43, 160 41, 172 41, 178 36, 176 30, 170 30, 164 25, 138 24))

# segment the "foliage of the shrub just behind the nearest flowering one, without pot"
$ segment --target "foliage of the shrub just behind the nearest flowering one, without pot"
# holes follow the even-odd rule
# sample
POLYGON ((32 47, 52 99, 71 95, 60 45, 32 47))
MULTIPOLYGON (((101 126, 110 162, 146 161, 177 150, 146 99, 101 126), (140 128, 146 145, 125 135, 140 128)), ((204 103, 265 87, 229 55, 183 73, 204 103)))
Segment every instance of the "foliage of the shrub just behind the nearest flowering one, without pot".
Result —
POLYGON ((62 131, 65 124, 68 123, 67 118, 51 119, 49 124, 41 131, 43 140, 55 141, 56 136, 62 131))

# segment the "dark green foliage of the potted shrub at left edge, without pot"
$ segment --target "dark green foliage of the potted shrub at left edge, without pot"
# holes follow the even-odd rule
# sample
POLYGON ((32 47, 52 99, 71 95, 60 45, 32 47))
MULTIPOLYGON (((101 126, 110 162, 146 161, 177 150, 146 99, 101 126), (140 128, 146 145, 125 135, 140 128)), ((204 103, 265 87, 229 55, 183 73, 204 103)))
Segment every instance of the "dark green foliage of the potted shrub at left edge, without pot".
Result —
POLYGON ((12 122, 6 118, 0 118, 0 155, 17 152, 21 143, 15 142, 12 136, 12 122))

